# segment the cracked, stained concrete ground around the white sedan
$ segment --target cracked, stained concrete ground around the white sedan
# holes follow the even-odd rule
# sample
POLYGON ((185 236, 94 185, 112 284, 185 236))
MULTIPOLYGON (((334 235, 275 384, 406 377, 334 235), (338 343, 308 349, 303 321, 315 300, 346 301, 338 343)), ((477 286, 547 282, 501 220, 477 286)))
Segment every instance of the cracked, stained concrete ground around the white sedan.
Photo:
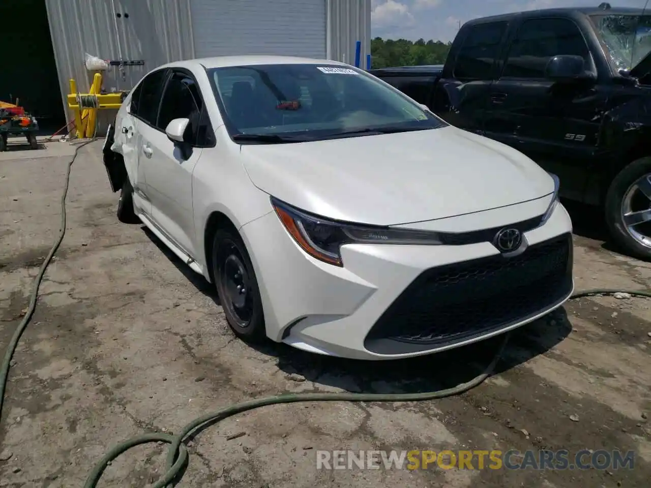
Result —
MULTIPOLYGON (((118 223, 100 147, 83 148, 74 164, 68 231, 12 362, 0 487, 81 486, 117 442, 178 431, 242 400, 341 388, 424 391, 467 381, 498 346, 489 341, 379 364, 246 346, 230 333, 201 277, 140 226, 118 223)), ((0 352, 57 234, 73 150, 51 142, 0 154, 0 352)), ((575 223, 579 217, 573 214, 575 223)), ((592 227, 575 236, 577 290, 648 289, 651 264, 609 251, 592 227)), ((519 329, 498 373, 462 396, 276 405, 208 427, 190 442, 180 486, 648 487, 648 416, 651 300, 579 299, 519 329), (229 440, 238 433, 244 435, 229 440), (316 469, 316 450, 392 448, 621 449, 636 457, 633 470, 316 469)), ((156 481, 164 455, 163 445, 135 448, 107 469, 102 486, 156 481)))

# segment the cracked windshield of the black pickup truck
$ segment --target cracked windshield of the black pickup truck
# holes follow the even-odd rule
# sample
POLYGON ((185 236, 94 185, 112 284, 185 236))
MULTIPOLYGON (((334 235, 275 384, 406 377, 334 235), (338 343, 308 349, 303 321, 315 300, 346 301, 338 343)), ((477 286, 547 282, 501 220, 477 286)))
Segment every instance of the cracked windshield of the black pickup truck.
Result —
POLYGON ((617 70, 630 71, 651 51, 651 15, 592 16, 617 70))

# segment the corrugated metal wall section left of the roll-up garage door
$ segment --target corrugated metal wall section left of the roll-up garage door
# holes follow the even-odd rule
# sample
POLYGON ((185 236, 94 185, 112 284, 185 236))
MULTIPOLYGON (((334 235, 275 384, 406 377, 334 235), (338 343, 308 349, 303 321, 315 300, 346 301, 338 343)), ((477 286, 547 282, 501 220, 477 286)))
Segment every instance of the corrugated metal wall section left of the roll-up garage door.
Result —
MULTIPOLYGON (((156 66, 194 57, 189 0, 46 0, 46 5, 66 109, 70 78, 79 92, 90 89, 85 53, 145 61, 125 66, 123 73, 117 67, 103 72, 107 91, 129 90, 156 66)), ((100 111, 100 132, 112 112, 100 111)))

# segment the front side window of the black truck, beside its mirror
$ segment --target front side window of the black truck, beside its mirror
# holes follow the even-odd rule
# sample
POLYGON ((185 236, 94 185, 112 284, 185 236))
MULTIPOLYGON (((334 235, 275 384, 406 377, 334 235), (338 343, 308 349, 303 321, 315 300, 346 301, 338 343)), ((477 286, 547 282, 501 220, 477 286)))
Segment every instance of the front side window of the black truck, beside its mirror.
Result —
POLYGON ((511 44, 502 76, 544 78, 547 62, 557 55, 581 56, 590 62, 579 27, 569 19, 527 20, 511 44))

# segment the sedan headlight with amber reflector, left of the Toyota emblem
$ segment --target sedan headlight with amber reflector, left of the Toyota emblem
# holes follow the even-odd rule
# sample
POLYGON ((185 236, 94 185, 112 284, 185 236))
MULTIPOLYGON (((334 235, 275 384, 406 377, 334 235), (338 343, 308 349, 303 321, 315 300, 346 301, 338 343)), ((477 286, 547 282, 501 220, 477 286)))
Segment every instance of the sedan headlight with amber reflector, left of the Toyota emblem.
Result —
POLYGON ((441 245, 436 232, 328 221, 271 198, 271 205, 296 243, 313 258, 342 266, 340 247, 350 243, 441 245))

